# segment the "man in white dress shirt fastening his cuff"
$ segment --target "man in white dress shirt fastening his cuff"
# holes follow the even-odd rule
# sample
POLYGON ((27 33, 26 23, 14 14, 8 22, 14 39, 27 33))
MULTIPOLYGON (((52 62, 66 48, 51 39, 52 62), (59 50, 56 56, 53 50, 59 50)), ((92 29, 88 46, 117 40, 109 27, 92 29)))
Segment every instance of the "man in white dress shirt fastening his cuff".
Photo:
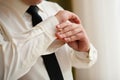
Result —
POLYGON ((64 80, 73 80, 72 67, 90 67, 97 57, 75 14, 42 0, 2 0, 0 80, 50 80, 42 56, 53 53, 64 80), (33 27, 27 10, 36 4, 43 21, 33 27))

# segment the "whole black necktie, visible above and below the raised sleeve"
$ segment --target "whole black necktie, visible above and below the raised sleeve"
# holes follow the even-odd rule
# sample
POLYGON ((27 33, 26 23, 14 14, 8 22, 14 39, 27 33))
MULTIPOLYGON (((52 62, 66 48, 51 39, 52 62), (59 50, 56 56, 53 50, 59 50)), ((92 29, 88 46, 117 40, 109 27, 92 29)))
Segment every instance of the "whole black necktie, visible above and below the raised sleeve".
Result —
MULTIPOLYGON (((33 27, 42 21, 41 16, 38 14, 38 10, 39 8, 34 5, 30 6, 26 11, 32 16, 33 27)), ((50 80, 64 80, 55 53, 43 55, 42 58, 50 80)))

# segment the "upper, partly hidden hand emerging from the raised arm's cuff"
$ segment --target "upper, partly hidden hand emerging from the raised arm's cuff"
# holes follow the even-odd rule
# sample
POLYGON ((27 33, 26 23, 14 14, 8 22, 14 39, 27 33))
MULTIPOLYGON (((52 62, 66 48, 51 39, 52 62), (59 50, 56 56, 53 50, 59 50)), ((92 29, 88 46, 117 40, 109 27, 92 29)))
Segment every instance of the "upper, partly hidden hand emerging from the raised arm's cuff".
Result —
POLYGON ((70 21, 72 23, 80 23, 80 19, 77 15, 70 11, 61 10, 56 15, 56 18, 59 20, 59 23, 70 21))

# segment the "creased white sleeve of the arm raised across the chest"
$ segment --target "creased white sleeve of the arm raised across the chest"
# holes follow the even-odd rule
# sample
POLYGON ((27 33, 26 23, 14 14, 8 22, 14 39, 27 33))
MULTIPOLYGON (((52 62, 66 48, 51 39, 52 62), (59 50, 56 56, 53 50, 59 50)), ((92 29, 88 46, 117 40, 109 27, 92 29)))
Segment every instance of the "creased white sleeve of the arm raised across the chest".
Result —
POLYGON ((51 16, 45 21, 38 24, 31 30, 23 33, 8 34, 5 26, 0 26, 0 52, 3 55, 4 79, 17 80, 27 73, 36 63, 41 55, 50 54, 57 47, 52 43, 56 40, 55 32, 58 20, 51 16), (52 48, 54 47, 54 49, 52 48))

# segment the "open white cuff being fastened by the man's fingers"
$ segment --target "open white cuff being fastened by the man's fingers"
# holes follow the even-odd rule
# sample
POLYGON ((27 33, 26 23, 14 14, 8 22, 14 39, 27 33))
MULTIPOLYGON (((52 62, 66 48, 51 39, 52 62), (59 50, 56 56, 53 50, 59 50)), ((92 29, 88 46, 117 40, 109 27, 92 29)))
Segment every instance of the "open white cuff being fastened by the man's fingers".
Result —
POLYGON ((41 28, 42 31, 45 33, 47 40, 49 39, 50 43, 47 44, 46 54, 53 53, 57 50, 57 48, 61 47, 64 43, 56 39, 56 25, 59 24, 58 19, 55 16, 51 16, 41 22, 40 24, 36 25, 36 29, 41 28))

